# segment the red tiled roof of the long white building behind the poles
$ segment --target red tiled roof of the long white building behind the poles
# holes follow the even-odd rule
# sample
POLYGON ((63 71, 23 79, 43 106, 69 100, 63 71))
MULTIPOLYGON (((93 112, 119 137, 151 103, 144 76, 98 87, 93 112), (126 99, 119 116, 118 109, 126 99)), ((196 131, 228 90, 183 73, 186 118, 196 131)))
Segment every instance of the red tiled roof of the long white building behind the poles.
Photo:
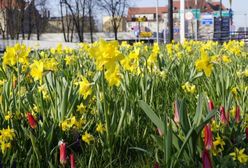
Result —
MULTIPOLYGON (((202 12, 213 12, 219 10, 219 2, 206 2, 206 0, 198 1, 198 4, 195 5, 195 0, 186 0, 185 8, 186 9, 201 9, 202 12)), ((180 9, 180 1, 173 1, 173 12, 177 13, 180 9)), ((222 9, 225 10, 225 6, 222 4, 222 9)), ((128 8, 127 20, 131 21, 134 15, 145 15, 145 14, 155 14, 156 7, 131 7, 128 8)), ((159 15, 163 13, 168 13, 168 6, 158 8, 159 15)))

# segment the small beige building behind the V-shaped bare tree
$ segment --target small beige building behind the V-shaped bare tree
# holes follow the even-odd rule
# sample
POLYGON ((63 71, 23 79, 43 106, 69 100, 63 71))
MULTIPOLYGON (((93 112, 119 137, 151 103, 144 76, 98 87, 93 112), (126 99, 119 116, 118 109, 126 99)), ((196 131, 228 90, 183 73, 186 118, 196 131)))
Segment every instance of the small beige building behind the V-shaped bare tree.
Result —
MULTIPOLYGON (((120 26, 118 28, 118 32, 126 32, 126 18, 125 17, 118 17, 118 19, 121 19, 120 20, 120 26)), ((103 17, 103 32, 113 32, 113 26, 112 26, 112 23, 111 23, 111 20, 112 20, 112 17, 111 16, 104 16, 103 17)))

